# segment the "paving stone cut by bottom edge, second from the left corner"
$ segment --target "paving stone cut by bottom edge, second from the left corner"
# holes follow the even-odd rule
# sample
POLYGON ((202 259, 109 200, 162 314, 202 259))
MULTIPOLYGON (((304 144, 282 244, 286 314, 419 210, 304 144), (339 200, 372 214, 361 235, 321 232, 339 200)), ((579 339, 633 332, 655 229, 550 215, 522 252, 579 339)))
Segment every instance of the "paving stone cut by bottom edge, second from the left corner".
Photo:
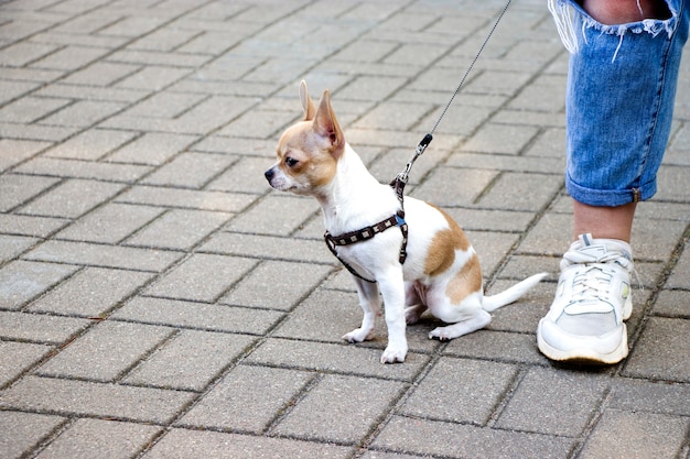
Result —
POLYGON ((36 458, 130 458, 158 433, 158 426, 103 419, 77 419, 36 458))

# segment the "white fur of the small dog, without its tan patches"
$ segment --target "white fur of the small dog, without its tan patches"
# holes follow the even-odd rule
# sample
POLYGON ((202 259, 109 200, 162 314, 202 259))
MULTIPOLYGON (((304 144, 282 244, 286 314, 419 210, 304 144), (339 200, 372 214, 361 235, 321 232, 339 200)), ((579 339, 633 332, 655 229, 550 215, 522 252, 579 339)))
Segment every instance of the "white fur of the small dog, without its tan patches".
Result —
MULTIPOLYGON (((315 196, 323 210, 325 227, 333 236, 358 230, 396 214, 400 206, 396 193, 389 185, 378 183, 357 153, 345 143, 330 110, 330 95, 324 92, 313 121, 310 113, 314 114, 314 107, 310 106, 312 102, 304 84, 301 87, 301 99, 306 113, 305 121, 289 128, 283 134, 278 151, 279 162, 266 173, 271 186, 315 196), (325 121, 321 119, 322 116, 325 121), (331 118, 333 119, 330 120, 331 118), (332 122, 333 132, 317 125, 328 122, 332 122), (297 133, 290 131, 291 129, 297 133), (335 174, 324 185, 313 186, 310 181, 304 179, 305 173, 291 175, 285 172, 289 168, 281 165, 290 154, 309 161, 323 155, 324 151, 337 152, 334 153, 337 156, 335 174)), ((402 240, 399 228, 390 228, 373 239, 337 248, 338 255, 359 274, 377 281, 373 284, 353 276, 364 317, 362 326, 343 338, 351 342, 371 338, 376 319, 380 315, 380 291, 388 328, 388 346, 381 356, 381 362, 405 361, 408 351, 406 324, 416 323, 427 308, 435 317, 450 324, 435 328, 429 337, 453 339, 488 325, 488 312, 515 302, 546 276, 545 273, 533 275, 490 297, 485 297, 482 288, 478 288, 466 295, 460 304, 453 304, 446 294, 446 287, 465 263, 475 256, 474 249, 470 247, 465 251, 456 250, 454 261, 448 270, 434 276, 429 275, 425 273, 425 263, 431 242, 439 231, 450 228, 449 222, 438 209, 409 196, 405 197, 405 211, 409 226, 408 258, 405 264, 400 264, 398 260, 402 240)), ((481 272, 477 270, 474 275, 479 277, 474 281, 481 285, 481 272)))

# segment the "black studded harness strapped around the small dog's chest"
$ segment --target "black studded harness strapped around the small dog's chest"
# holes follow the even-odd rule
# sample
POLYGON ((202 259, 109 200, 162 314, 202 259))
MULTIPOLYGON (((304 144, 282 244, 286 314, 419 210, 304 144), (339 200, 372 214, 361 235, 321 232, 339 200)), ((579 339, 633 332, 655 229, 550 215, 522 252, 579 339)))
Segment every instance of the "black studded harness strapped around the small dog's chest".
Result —
POLYGON ((333 253, 333 255, 338 259, 338 261, 349 271, 353 275, 362 278, 363 281, 375 283, 376 281, 368 280, 359 274, 355 269, 348 264, 345 260, 343 260, 338 254, 335 248, 337 245, 349 245, 357 242, 363 242, 368 239, 374 238, 379 232, 384 232, 389 228, 400 227, 400 232, 402 233, 402 242, 400 242, 400 254, 398 256, 398 261, 400 264, 405 263, 407 259, 407 244, 408 244, 408 223, 405 221, 405 208, 402 206, 402 190, 405 188, 405 183, 395 179, 391 182, 390 186, 396 190, 398 195, 398 200, 400 201, 400 210, 396 212, 396 215, 388 217, 385 220, 379 221, 378 223, 371 225, 369 227, 365 227, 360 230, 349 231, 339 236, 332 236, 328 231, 323 234, 323 239, 326 242, 326 247, 333 253))

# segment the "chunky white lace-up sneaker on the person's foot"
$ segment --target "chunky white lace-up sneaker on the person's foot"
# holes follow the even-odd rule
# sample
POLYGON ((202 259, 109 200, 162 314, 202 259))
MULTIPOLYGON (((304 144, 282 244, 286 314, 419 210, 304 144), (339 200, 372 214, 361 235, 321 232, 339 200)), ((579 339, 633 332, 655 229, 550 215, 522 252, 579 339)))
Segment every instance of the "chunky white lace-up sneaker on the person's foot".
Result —
POLYGON ((617 363, 627 356, 633 298, 630 245, 581 234, 561 260, 556 298, 539 321, 539 350, 552 360, 617 363))

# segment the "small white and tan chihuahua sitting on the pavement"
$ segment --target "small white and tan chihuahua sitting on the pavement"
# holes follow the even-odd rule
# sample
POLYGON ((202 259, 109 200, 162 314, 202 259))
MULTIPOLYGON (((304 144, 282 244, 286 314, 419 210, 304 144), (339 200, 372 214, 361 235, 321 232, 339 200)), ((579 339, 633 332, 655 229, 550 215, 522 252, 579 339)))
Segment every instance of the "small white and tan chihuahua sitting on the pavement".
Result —
POLYGON ((283 132, 278 162, 266 171, 266 178, 278 190, 315 197, 326 234, 353 239, 363 232, 375 234, 354 244, 331 242, 354 274, 364 309, 362 326, 344 339, 371 338, 380 315, 380 287, 388 327, 381 362, 402 362, 408 351, 406 324, 414 324, 427 308, 450 324, 432 330, 429 338, 450 340, 484 328, 492 319, 489 312, 515 302, 546 276, 536 274, 500 294, 484 296, 479 260, 460 225, 443 210, 412 197, 405 198, 403 219, 397 217, 401 201, 396 190, 374 178, 345 142, 330 91, 323 92, 316 107, 302 81, 300 99, 304 118, 283 132), (395 228, 406 223, 407 259, 401 263, 407 231, 395 228), (386 230, 389 227, 393 229, 386 230))

